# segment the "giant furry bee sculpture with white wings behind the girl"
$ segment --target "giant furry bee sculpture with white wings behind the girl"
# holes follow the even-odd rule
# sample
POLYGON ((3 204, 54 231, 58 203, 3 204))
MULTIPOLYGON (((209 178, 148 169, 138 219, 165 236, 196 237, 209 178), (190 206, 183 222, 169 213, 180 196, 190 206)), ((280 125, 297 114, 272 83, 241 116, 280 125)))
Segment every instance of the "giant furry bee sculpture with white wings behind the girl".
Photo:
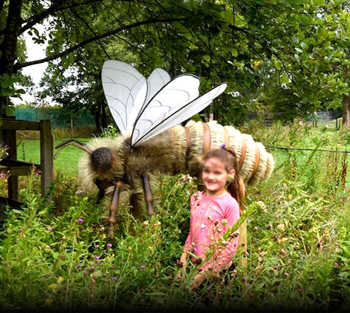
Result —
POLYGON ((222 143, 232 146, 246 183, 257 184, 271 174, 272 156, 251 136, 216 122, 178 125, 208 106, 226 89, 226 83, 199 96, 196 76, 180 75, 170 80, 157 68, 146 79, 131 65, 108 60, 102 68, 102 86, 121 135, 94 138, 86 145, 69 140, 56 148, 60 151, 70 144, 86 152, 79 161, 79 175, 87 189, 97 186, 97 201, 113 186, 109 237, 113 236, 121 190, 131 191, 132 214, 139 219, 143 189, 148 215, 152 215, 150 182, 160 173, 195 174, 196 157, 209 148, 222 143))

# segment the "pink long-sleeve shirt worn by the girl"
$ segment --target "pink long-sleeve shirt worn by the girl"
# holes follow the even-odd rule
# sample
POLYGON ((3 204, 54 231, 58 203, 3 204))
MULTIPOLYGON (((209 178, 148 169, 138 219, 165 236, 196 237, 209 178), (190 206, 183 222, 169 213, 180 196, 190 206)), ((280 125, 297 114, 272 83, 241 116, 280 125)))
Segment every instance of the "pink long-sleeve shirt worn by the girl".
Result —
MULTIPOLYGON (((228 192, 219 197, 207 197, 205 191, 198 191, 191 196, 190 213, 184 252, 189 250, 204 261, 207 251, 217 246, 223 234, 239 219, 239 206, 228 192)), ((237 250, 238 236, 239 228, 226 241, 220 242, 200 269, 205 271, 211 268, 219 272, 228 268, 237 250)), ((192 260, 195 261, 195 258, 192 257, 192 260)))

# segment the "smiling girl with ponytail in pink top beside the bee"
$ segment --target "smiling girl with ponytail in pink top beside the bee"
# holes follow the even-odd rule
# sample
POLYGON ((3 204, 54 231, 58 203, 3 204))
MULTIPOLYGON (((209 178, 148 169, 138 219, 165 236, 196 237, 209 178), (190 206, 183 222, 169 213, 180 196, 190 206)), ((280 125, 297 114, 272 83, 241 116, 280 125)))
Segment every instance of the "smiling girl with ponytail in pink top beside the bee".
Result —
POLYGON ((196 263, 206 260, 194 276, 192 289, 210 271, 218 274, 232 264, 239 229, 226 242, 221 241, 214 253, 209 252, 210 256, 207 251, 212 250, 211 247, 217 245, 217 240, 222 240, 223 234, 239 219, 239 207, 242 207, 245 197, 244 183, 239 177, 237 157, 232 148, 224 148, 222 145, 219 149, 208 151, 201 159, 201 166, 202 182, 206 190, 191 196, 189 234, 180 257, 183 268, 186 266, 187 251, 195 255, 192 261, 196 263))

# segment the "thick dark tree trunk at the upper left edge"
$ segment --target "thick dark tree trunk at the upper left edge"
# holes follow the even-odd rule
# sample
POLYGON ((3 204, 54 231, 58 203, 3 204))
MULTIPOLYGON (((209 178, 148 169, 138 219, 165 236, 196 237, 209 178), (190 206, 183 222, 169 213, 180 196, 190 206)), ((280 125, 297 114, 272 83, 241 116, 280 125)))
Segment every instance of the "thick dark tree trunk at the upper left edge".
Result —
MULTIPOLYGON (((22 19, 22 0, 10 0, 3 41, 0 46, 0 75, 12 76, 14 61, 17 59, 17 35, 22 19)), ((0 116, 6 115, 7 98, 0 97, 0 116)))

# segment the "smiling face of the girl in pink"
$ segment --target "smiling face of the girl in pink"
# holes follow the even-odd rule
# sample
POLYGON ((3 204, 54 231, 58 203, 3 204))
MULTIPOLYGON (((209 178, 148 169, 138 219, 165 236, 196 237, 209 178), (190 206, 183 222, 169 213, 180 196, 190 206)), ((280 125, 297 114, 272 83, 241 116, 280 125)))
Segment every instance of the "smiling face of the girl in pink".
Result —
MULTIPOLYGON (((234 175, 234 169, 229 173, 234 175)), ((202 170, 202 181, 207 194, 213 196, 222 193, 225 190, 227 175, 225 166, 218 158, 207 159, 202 170)))

